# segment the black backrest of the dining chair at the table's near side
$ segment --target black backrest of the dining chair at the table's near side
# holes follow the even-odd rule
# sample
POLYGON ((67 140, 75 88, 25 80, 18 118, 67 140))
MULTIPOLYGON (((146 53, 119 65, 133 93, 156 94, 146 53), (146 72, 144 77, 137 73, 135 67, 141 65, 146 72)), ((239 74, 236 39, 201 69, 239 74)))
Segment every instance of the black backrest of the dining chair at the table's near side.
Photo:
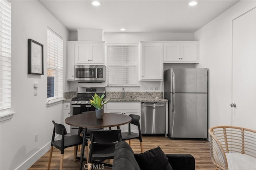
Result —
POLYGON ((90 141, 96 143, 114 143, 122 140, 121 130, 91 131, 90 141))

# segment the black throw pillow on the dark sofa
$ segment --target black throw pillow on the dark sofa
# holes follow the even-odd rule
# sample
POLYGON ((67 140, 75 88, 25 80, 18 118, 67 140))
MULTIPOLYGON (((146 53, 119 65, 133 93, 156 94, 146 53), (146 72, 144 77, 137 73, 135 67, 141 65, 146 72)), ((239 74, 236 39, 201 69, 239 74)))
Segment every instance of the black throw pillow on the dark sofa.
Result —
POLYGON ((141 170, 172 170, 168 158, 160 147, 134 154, 141 170))

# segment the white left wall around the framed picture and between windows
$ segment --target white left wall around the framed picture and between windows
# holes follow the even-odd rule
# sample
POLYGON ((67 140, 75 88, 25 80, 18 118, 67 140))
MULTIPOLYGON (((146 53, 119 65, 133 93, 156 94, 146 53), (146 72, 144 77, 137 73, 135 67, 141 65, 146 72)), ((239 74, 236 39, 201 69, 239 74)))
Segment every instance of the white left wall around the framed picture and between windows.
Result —
MULTIPOLYGON (((28 169, 50 149, 53 130, 51 121, 63 123, 62 104, 46 107, 47 27, 63 37, 64 51, 66 51, 69 31, 40 2, 12 1, 11 105, 16 113, 12 119, 0 123, 1 170, 14 170, 19 166, 18 169, 28 169), (30 38, 44 45, 44 75, 28 74, 28 39, 30 38), (34 82, 39 84, 38 96, 33 94, 34 82), (38 133, 37 142, 35 142, 36 133, 38 133)), ((65 63, 66 53, 63 54, 65 63)))

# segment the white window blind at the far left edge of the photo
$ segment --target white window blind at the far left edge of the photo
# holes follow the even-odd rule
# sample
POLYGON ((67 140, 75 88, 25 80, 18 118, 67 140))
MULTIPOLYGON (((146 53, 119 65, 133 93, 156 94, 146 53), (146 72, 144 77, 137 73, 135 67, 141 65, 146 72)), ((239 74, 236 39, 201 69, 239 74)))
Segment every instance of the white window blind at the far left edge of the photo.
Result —
POLYGON ((11 107, 11 3, 0 0, 0 110, 11 107))

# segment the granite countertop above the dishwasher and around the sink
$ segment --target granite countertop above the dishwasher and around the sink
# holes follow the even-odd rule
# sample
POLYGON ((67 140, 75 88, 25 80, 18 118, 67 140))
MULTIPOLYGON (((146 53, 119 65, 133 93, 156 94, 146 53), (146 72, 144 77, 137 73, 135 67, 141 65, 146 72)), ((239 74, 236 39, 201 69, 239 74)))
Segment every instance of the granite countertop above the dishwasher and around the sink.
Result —
POLYGON ((108 102, 168 102, 164 98, 106 98, 108 102))

